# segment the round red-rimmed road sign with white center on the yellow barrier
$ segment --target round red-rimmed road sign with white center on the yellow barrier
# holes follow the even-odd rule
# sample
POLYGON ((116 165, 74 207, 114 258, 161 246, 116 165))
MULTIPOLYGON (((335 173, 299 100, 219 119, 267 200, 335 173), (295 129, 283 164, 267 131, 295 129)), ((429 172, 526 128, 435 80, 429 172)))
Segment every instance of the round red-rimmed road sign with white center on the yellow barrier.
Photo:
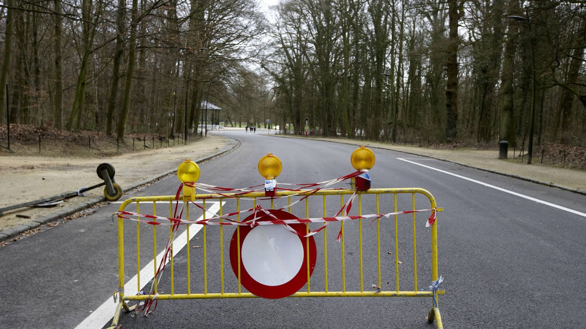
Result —
MULTIPOLYGON (((268 210, 280 220, 298 219, 283 210, 268 210)), ((258 213, 257 213, 258 214, 258 213)), ((254 214, 244 221, 254 218, 254 214)), ((264 215, 256 222, 274 220, 264 215)), ((240 227, 240 282, 258 297, 277 299, 291 296, 307 283, 307 255, 309 275, 315 268, 315 240, 306 242, 305 224, 289 224, 299 234, 282 224, 240 227)), ((230 241, 230 264, 238 277, 237 231, 230 241)))

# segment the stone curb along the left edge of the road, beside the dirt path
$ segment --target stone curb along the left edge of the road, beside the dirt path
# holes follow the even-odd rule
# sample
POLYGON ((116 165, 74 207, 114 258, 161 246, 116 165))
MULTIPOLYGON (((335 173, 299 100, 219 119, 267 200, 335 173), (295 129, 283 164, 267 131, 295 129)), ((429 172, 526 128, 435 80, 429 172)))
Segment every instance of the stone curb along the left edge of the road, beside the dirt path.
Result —
MULTIPOLYGON (((229 139, 236 142, 236 143, 234 143, 234 145, 230 149, 223 150, 222 152, 218 152, 218 153, 210 155, 210 156, 202 157, 200 159, 195 160, 194 162, 195 163, 202 163, 202 162, 206 162, 208 160, 212 160, 215 157, 222 156, 222 155, 236 149, 238 146, 240 146, 239 140, 234 139, 234 138, 229 138, 229 139)), ((155 180, 161 179, 162 177, 165 177, 168 174, 173 174, 175 172, 177 172, 177 169, 167 170, 166 172, 163 172, 161 174, 156 174, 155 176, 149 177, 148 179, 145 179, 145 180, 139 181, 138 183, 132 184, 130 187, 127 187, 127 188, 123 189, 122 191, 124 193, 127 193, 128 191, 137 189, 138 187, 141 187, 145 184, 152 183, 155 180)), ((40 225, 44 225, 47 222, 59 220, 60 218, 65 218, 71 214, 74 214, 74 213, 77 213, 81 210, 90 208, 91 206, 96 205, 101 202, 104 202, 104 201, 106 201, 106 198, 104 196, 94 197, 94 198, 91 198, 90 200, 85 200, 81 203, 69 205, 66 208, 61 208, 52 214, 48 214, 48 215, 44 215, 43 217, 35 218, 28 223, 20 224, 20 225, 16 225, 15 227, 4 229, 3 231, 0 231, 0 242, 6 241, 8 239, 12 239, 13 237, 17 237, 18 235, 22 234, 23 232, 28 231, 29 229, 38 228, 40 225)))

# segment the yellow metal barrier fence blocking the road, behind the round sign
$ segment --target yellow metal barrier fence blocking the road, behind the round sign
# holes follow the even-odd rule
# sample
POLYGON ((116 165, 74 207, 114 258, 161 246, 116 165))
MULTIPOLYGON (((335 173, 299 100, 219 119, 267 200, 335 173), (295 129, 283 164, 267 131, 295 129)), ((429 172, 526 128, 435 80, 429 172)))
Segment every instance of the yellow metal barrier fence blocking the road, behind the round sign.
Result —
MULTIPOLYGON (((121 310, 124 308, 131 311, 135 306, 128 306, 127 301, 151 301, 152 300, 175 300, 175 299, 224 299, 224 298, 249 298, 257 297, 255 294, 246 292, 241 284, 243 275, 241 268, 241 230, 244 226, 237 222, 242 222, 240 211, 248 208, 258 208, 262 206, 265 209, 284 208, 289 213, 297 215, 299 218, 322 217, 328 218, 332 211, 337 211, 343 207, 345 202, 356 193, 356 203, 354 211, 357 215, 363 214, 386 214, 397 213, 398 209, 415 211, 417 205, 425 205, 430 208, 431 212, 442 211, 437 208, 435 198, 424 189, 370 189, 366 191, 354 191, 347 189, 319 190, 310 191, 280 191, 277 192, 276 198, 265 198, 265 193, 254 192, 246 194, 197 194, 195 199, 199 200, 201 205, 196 208, 201 214, 199 222, 205 222, 210 217, 210 204, 215 204, 216 209, 212 212, 219 211, 219 215, 236 213, 234 222, 220 222, 225 225, 203 225, 202 230, 202 255, 193 257, 190 239, 195 235, 193 225, 185 226, 186 238, 186 272, 177 273, 176 266, 173 263, 173 252, 168 259, 161 260, 161 253, 157 253, 157 239, 159 245, 161 239, 170 241, 171 250, 173 249, 173 239, 178 234, 171 229, 166 229, 158 220, 158 214, 169 215, 169 218, 177 216, 173 208, 176 202, 183 203, 185 207, 185 221, 190 221, 193 217, 189 213, 189 197, 179 196, 155 196, 155 197, 134 197, 125 200, 120 205, 118 214, 130 211, 131 205, 135 206, 134 214, 150 213, 148 224, 137 221, 136 224, 128 221, 123 215, 118 217, 118 268, 119 268, 119 285, 117 296, 120 299, 112 323, 113 328, 118 325, 121 310), (309 195, 311 194, 311 195, 309 195), (305 197, 308 196, 308 197, 305 197), (281 197, 281 198, 279 198, 281 197), (305 197, 305 198, 304 198, 305 197), (293 200, 292 200, 293 199, 293 200), (292 201, 302 200, 299 204, 291 207, 292 201), (163 209, 161 210, 161 204, 163 209), (304 206, 303 206, 304 205, 304 206), (127 209, 128 208, 128 209, 127 209), (145 212, 145 210, 148 210, 145 212), (206 214, 207 213, 207 214, 206 214), (202 221, 203 218, 203 221, 202 221), (125 230, 135 227, 136 244, 134 246, 125 245, 125 237, 129 237, 125 230), (190 232, 190 228, 192 232, 190 232), (151 232, 147 232, 151 231, 151 232), (146 239, 152 239, 152 250, 141 251, 141 239, 144 241, 145 234, 152 235, 146 239), (163 234, 163 235, 162 235, 163 234), (174 236, 175 234, 175 236, 174 236), (226 244, 230 239, 226 234, 236 239, 236 255, 231 255, 237 262, 237 268, 234 270, 234 277, 226 276, 226 261, 229 259, 230 251, 226 244), (142 238, 141 238, 142 237, 142 238), (216 240, 217 239, 217 240, 216 240), (209 241, 217 241, 213 249, 209 241), (124 284, 126 280, 125 268, 132 266, 125 264, 125 248, 130 249, 130 255, 134 259, 136 255, 136 272, 137 277, 137 294, 125 294, 124 284), (151 292, 142 293, 141 287, 141 258, 145 259, 144 253, 151 255, 155 264, 153 268, 154 279, 147 279, 151 283, 151 292), (141 257, 142 255, 142 257, 141 257), (169 276, 161 277, 159 280, 165 280, 169 289, 167 293, 159 291, 159 282, 157 282, 158 263, 167 262, 169 264, 169 276), (215 267, 220 273, 219 277, 209 277, 210 268, 215 267), (194 280, 194 269, 197 272, 194 280), (193 272, 193 273, 192 273, 193 272), (178 275, 182 277, 177 280, 178 275), (180 284, 178 284, 180 282, 180 284)), ((175 208, 176 209, 176 208, 175 208)), ((176 211, 176 210, 175 210, 176 211)), ((430 323, 437 320, 438 328, 442 328, 440 311, 437 307, 437 294, 443 294, 444 290, 432 289, 432 291, 421 289, 421 277, 427 288, 432 281, 438 280, 438 250, 437 250, 437 221, 431 225, 431 235, 427 229, 419 229, 423 222, 418 219, 423 213, 410 213, 405 215, 390 215, 387 217, 376 217, 372 220, 363 220, 364 218, 350 219, 329 223, 323 231, 315 235, 319 251, 317 255, 317 265, 310 263, 309 254, 305 260, 305 279, 306 284, 303 289, 291 294, 289 297, 430 297, 433 301, 428 321, 430 323), (371 227, 372 225, 372 227, 371 227), (329 229, 329 230, 328 230, 329 229), (339 234, 339 243, 332 242, 335 235, 332 236, 331 230, 335 229, 339 234), (339 230, 339 231, 338 231, 339 230), (349 234, 350 231, 350 234, 349 234), (375 233, 376 231, 376 233, 375 233), (364 239, 363 235, 368 234, 369 238, 364 239), (357 238, 356 238, 357 235, 357 238), (417 237, 427 239, 427 242, 418 245, 417 237), (419 246, 419 249, 417 248, 419 246), (347 248, 357 249, 357 253, 352 256, 346 254, 347 248), (421 252, 421 248, 424 251, 421 252), (418 250, 420 250, 418 252, 418 250), (388 257, 392 255, 392 257, 388 257), (400 255, 401 259, 400 260, 400 255), (335 261, 333 261, 335 260, 335 261), (335 265, 334 265, 335 264, 335 265), (406 266, 411 264, 411 266, 406 266), (313 273, 312 273, 313 272, 313 273), (392 277, 393 279, 389 279, 392 277), (394 281, 394 284, 389 281, 394 281), (375 285, 376 283, 376 285, 375 285), (389 283, 389 290, 384 289, 384 285, 389 283), (372 285, 371 285, 372 284, 372 285), (407 288, 406 288, 407 287, 407 288)), ((425 214, 426 218, 429 212, 425 214)), ((159 218, 160 219, 160 218, 159 218)), ((303 221, 303 220, 301 220, 303 221)), ((306 221, 306 232, 310 232, 309 220, 306 221)), ((197 230, 196 230, 197 233, 197 230)), ((306 247, 309 248, 309 237, 305 239, 306 247)), ((313 237, 312 237, 313 241, 313 237)), ((160 248, 160 247, 159 247, 160 248)), ((160 249, 159 249, 160 250, 160 249)), ((234 251, 234 250, 233 250, 234 251)), ((233 261, 234 261, 233 259, 233 261)), ((159 266, 160 267, 160 266, 159 266)), ((144 269, 143 269, 144 271, 144 269)), ((144 273, 144 272, 143 272, 144 273)), ((144 280, 144 279, 143 279, 144 280)))

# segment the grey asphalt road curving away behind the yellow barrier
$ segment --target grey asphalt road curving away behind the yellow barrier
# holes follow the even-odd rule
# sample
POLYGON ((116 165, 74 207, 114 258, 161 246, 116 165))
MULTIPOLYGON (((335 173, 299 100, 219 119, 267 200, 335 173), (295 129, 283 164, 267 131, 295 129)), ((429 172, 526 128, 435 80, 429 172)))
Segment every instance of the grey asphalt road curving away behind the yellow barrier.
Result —
MULTIPOLYGON (((257 162, 268 152, 280 157, 283 163, 278 183, 312 183, 353 172, 349 161, 355 149, 352 145, 277 138, 258 132, 229 131, 223 135, 239 139, 240 147, 200 165, 199 182, 224 187, 260 184, 264 179, 257 172, 257 162)), ((585 196, 452 163, 373 150, 373 188, 423 187, 435 196, 438 206, 445 208, 438 214, 438 249, 439 270, 445 277, 442 289, 447 291, 440 297, 446 328, 586 327, 582 320, 586 281, 585 196)), ((178 184, 176 177, 171 176, 128 197, 175 194, 178 184)), ((363 199, 363 214, 373 213, 373 201, 363 199)), ((381 213, 392 211, 389 200, 385 201, 381 203, 381 213)), ((398 201, 399 210, 409 210, 403 208, 410 207, 407 201, 398 201)), ((312 213, 321 215, 320 202, 310 204, 312 213)), ((429 205, 420 198, 416 204, 417 208, 429 205)), ((118 206, 106 205, 92 215, 0 248, 1 328, 74 328, 98 312, 105 301, 114 304, 111 293, 117 289, 117 229, 110 224, 111 214, 118 206)), ((233 206, 227 204, 224 211, 230 207, 233 206)), ((168 213, 168 208, 165 204, 157 205, 158 214, 168 213)), ((339 201, 328 203, 328 213, 338 209, 339 201)), ((152 206, 141 205, 141 211, 152 211, 152 206)), ((192 215, 193 211, 195 208, 192 215)), ((304 205, 295 206, 294 212, 304 211, 304 205)), ((357 211, 356 205, 353 211, 357 211)), ((431 282, 427 216, 421 213, 416 217, 419 289, 431 282)), ((411 225, 411 215, 399 217, 401 290, 413 290, 411 225)), ((125 226, 127 280, 137 272, 135 227, 134 222, 125 226)), ((340 289, 340 245, 335 241, 338 228, 338 223, 328 227, 330 290, 340 289)), ((346 224, 347 290, 359 289, 357 231, 357 222, 346 224)), ((152 228, 142 225, 140 232, 141 266, 145 266, 152 258, 152 228)), ((369 290, 372 283, 377 283, 376 228, 369 228, 368 222, 363 221, 362 232, 364 289, 369 290)), ((164 248, 163 233, 159 228, 158 252, 164 248)), ((224 233, 227 252, 231 231, 226 229, 224 233)), ((219 290, 217 235, 216 227, 207 228, 209 292, 219 290)), ((312 290, 322 290, 323 234, 315 235, 315 241, 318 262, 311 285, 312 290)), ((193 246, 202 245, 202 231, 190 243, 192 292, 200 292, 203 269, 197 256, 202 255, 203 248, 193 246)), ((381 220, 381 248, 383 289, 393 290, 392 220, 381 220)), ((182 249, 174 262, 176 293, 185 290, 186 279, 180 273, 186 273, 186 263, 186 250, 182 249)), ((234 292, 236 278, 227 256, 224 276, 226 291, 234 292)), ((159 290, 170 291, 168 279, 160 283, 159 290)), ((149 317, 131 317, 123 312, 120 323, 122 328, 430 328, 424 318, 430 306, 428 298, 405 297, 173 300, 159 302, 149 317)), ((110 319, 100 321, 100 326, 107 327, 110 319)))

